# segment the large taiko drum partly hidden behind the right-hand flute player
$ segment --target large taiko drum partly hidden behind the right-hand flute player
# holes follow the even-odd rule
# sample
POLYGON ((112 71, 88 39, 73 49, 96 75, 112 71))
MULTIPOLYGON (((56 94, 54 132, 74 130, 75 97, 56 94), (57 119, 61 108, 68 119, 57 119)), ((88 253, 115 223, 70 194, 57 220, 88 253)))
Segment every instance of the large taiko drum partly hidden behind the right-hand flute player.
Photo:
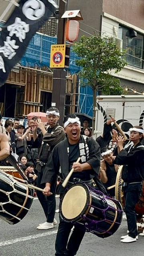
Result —
MULTIPOLYGON (((122 207, 124 208, 124 204, 125 204, 124 194, 122 192, 122 186, 121 186, 121 183, 123 181, 122 170, 123 170, 123 165, 121 165, 118 169, 118 173, 116 177, 115 195, 116 195, 116 199, 120 201, 120 203, 122 204, 122 207)), ((136 211, 136 214, 138 215, 142 216, 144 214, 144 181, 143 181, 142 195, 140 197, 140 200, 136 204, 135 211, 136 211)))

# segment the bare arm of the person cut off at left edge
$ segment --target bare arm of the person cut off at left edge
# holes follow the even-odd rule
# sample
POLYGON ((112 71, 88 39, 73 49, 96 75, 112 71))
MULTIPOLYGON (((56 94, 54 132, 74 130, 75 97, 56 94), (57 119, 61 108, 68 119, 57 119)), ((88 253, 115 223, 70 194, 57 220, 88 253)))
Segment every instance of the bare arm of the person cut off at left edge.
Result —
POLYGON ((10 154, 10 145, 8 143, 8 136, 0 134, 0 160, 5 159, 10 154))

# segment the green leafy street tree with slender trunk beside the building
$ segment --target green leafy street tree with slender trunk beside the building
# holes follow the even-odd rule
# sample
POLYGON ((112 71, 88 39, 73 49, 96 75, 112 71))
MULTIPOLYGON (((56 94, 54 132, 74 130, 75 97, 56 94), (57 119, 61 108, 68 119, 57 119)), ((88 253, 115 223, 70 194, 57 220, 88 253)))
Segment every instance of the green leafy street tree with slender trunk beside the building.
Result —
POLYGON ((81 67, 78 73, 81 85, 88 85, 93 89, 94 130, 97 91, 100 89, 107 94, 112 93, 112 88, 115 88, 121 92, 120 80, 111 75, 111 70, 114 69, 115 73, 118 73, 127 64, 122 58, 125 53, 115 41, 96 35, 82 36, 79 42, 74 43, 72 50, 79 57, 76 65, 81 67))

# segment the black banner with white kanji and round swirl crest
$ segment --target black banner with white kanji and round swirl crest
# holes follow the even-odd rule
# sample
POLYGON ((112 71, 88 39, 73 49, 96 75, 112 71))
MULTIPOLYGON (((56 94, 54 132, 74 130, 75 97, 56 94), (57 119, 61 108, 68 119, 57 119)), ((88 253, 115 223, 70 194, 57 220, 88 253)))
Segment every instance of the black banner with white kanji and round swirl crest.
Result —
POLYGON ((53 0, 21 0, 4 25, 0 37, 0 87, 12 67, 20 61, 32 36, 55 16, 53 0))

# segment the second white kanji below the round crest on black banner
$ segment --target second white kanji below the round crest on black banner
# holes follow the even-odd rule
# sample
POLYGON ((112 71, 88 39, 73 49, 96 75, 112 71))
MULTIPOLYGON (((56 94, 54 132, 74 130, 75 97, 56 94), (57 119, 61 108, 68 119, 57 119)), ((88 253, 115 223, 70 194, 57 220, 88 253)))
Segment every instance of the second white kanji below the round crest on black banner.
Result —
POLYGON ((6 37, 6 41, 4 41, 4 46, 0 47, 0 53, 3 53, 4 57, 8 59, 12 59, 16 52, 14 49, 18 49, 19 46, 16 45, 16 40, 10 40, 11 37, 6 37))

